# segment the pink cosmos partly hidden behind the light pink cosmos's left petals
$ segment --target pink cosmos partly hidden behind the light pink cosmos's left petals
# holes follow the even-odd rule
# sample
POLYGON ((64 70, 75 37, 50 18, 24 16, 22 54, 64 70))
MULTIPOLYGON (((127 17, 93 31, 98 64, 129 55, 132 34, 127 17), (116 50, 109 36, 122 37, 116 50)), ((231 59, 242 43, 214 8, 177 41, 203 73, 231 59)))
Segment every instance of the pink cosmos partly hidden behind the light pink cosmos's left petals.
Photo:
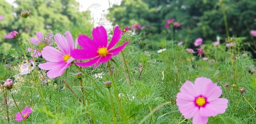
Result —
MULTIPOLYGON (((33 49, 34 57, 41 56, 41 51, 43 50, 43 48, 52 45, 53 34, 49 33, 47 37, 44 37, 44 34, 42 32, 37 32, 36 37, 37 39, 34 37, 30 38, 30 42, 32 43, 32 45, 34 45, 34 48, 28 48, 29 52, 31 52, 33 49)), ((31 56, 33 56, 33 54, 31 54, 31 56)))

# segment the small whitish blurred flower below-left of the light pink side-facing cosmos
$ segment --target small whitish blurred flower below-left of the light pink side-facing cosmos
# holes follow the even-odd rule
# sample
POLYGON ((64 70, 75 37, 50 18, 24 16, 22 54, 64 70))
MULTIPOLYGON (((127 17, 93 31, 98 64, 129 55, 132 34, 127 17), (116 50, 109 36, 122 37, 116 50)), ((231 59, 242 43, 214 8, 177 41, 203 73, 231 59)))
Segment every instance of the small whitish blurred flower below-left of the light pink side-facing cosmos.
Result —
POLYGON ((29 74, 34 69, 35 69, 35 62, 33 59, 30 59, 29 63, 26 62, 20 66, 20 75, 29 74))

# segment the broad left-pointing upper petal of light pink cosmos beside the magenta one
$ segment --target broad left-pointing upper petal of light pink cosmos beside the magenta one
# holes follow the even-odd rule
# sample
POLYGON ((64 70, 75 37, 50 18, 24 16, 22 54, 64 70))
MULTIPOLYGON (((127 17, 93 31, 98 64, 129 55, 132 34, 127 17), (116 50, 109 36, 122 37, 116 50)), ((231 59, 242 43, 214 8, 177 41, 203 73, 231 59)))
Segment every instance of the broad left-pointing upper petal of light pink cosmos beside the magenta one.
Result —
POLYGON ((54 47, 46 46, 42 50, 42 56, 44 59, 50 62, 61 62, 63 61, 64 54, 62 54, 54 47))

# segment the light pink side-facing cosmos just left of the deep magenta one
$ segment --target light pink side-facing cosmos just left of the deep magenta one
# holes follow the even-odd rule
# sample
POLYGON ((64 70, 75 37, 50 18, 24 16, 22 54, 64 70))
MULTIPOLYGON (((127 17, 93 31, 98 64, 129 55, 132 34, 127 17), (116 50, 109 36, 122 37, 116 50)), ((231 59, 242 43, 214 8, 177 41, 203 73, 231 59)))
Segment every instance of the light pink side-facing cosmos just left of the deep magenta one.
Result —
MULTIPOLYGON (((61 34, 56 34, 54 37, 61 51, 51 46, 46 46, 42 50, 42 56, 48 62, 39 64, 38 67, 43 70, 49 70, 47 76, 50 79, 61 76, 74 60, 74 58, 70 56, 70 52, 74 49, 73 37, 69 31, 66 31, 65 34, 67 39, 61 34)), ((75 43, 75 48, 76 46, 77 43, 75 43)))

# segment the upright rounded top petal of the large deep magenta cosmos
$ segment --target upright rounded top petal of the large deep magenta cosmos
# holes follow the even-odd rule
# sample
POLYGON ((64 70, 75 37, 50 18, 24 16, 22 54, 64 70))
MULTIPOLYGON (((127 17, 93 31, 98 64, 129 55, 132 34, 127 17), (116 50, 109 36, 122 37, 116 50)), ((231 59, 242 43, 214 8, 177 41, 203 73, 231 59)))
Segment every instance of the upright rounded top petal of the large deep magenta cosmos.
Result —
POLYGON ((103 26, 93 28, 93 41, 96 43, 97 48, 107 47, 108 45, 108 34, 103 26))

